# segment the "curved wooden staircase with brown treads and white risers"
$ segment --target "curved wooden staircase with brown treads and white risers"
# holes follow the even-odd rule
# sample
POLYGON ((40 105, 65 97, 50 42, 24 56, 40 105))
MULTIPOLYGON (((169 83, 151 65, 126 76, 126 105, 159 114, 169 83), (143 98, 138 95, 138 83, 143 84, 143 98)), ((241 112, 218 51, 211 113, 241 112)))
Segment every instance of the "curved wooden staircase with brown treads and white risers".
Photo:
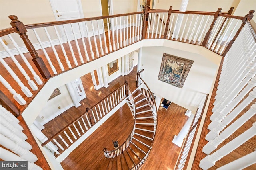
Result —
POLYGON ((114 158, 102 158, 97 169, 129 170, 146 156, 154 139, 152 109, 140 90, 133 92, 136 104, 136 123, 132 141, 124 152, 114 158))

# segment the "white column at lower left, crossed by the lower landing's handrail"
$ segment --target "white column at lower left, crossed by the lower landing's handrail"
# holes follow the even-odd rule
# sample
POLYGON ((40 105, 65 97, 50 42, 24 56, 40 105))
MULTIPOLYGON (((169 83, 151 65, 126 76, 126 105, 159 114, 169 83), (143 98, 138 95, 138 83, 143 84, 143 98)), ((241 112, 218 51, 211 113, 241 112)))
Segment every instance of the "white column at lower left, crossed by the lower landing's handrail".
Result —
MULTIPOLYGON (((46 136, 44 135, 44 133, 42 133, 42 132, 36 127, 36 125, 34 125, 34 123, 32 123, 32 125, 30 126, 30 129, 31 129, 31 131, 33 132, 33 134, 36 136, 36 138, 37 138, 40 142, 44 143, 45 141, 48 140, 48 137, 46 137, 46 136)), ((54 145, 52 142, 49 142, 48 144, 46 144, 46 147, 47 147, 48 149, 50 149, 50 151, 51 151, 52 153, 55 152, 54 150, 58 150, 58 147, 56 147, 56 145, 54 145), (48 146, 49 146, 49 147, 48 147, 48 146)))

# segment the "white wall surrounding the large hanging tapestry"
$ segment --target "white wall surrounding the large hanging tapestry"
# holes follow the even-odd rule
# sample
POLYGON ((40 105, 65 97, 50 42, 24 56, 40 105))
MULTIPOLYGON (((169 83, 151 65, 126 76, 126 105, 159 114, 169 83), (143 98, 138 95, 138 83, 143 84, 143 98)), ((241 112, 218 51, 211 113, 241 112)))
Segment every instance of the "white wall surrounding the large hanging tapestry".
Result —
POLYGON ((202 55, 168 47, 143 47, 142 68, 143 79, 150 90, 186 109, 196 111, 198 105, 210 93, 218 68, 202 55), (178 88, 158 80, 163 53, 193 60, 183 88, 178 88))

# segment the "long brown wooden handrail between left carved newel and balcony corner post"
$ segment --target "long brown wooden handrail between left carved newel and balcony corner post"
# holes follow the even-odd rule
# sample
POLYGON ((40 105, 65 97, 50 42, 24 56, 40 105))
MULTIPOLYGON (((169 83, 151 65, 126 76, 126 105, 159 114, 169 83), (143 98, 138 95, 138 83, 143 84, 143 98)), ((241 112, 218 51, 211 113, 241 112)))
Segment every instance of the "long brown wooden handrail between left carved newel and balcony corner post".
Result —
POLYGON ((68 24, 68 23, 77 23, 77 22, 83 22, 83 21, 100 20, 100 19, 120 17, 120 16, 129 16, 129 15, 134 15, 134 14, 143 14, 143 11, 141 11, 141 12, 131 12, 131 13, 127 13, 127 14, 116 14, 116 15, 110 15, 110 16, 98 16, 98 17, 90 17, 90 18, 81 18, 81 19, 76 19, 76 20, 36 23, 36 24, 25 25, 25 27, 26 27, 26 29, 49 27, 49 26, 62 25, 62 24, 68 24))

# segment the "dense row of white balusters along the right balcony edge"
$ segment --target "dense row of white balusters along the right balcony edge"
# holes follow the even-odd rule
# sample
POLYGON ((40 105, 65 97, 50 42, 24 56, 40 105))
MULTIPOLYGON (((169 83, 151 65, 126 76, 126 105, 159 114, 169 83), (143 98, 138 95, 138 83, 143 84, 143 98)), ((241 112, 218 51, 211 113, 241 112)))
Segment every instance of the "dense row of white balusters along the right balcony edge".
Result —
MULTIPOLYGON (((209 142, 203 147, 203 152, 208 156, 201 160, 199 165, 202 169, 214 166, 216 161, 256 135, 255 123, 247 131, 242 131, 239 136, 234 135, 236 130, 243 127, 246 122, 248 123, 248 120, 256 113, 256 104, 251 105, 251 102, 256 98, 255 47, 255 34, 250 29, 249 23, 246 23, 224 58, 215 97, 216 101, 212 109, 213 114, 210 117, 212 122, 208 126, 210 132, 206 135, 206 140, 209 142), (248 92, 250 93, 246 96, 248 92), (250 109, 242 112, 248 106, 250 109), (241 115, 241 113, 243 114, 241 115), (231 139, 226 145, 212 153, 231 135, 236 138, 231 139)), ((246 152, 246 150, 244 151, 246 152)), ((241 159, 244 160, 244 158, 241 159)), ((251 165, 249 162, 245 163, 240 160, 234 161, 230 165, 237 163, 240 166, 243 164, 243 167, 251 165)))

